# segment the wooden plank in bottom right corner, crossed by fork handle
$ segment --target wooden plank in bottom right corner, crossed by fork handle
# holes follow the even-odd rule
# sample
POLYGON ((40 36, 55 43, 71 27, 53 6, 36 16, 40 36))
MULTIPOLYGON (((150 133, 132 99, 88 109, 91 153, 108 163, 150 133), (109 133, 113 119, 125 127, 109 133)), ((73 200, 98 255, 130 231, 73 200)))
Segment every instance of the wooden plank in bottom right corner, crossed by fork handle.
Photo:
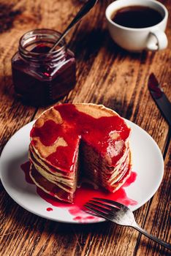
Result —
MULTIPOLYGON (((145 230, 148 233, 153 234, 163 241, 170 242, 170 191, 171 191, 171 143, 167 156, 164 161, 164 178, 161 182, 159 190, 153 197, 151 206, 148 211, 147 218, 145 219, 145 230)), ((142 246, 138 246, 134 252, 134 255, 169 255, 169 251, 164 247, 156 244, 153 241, 141 236, 140 243, 142 246)))

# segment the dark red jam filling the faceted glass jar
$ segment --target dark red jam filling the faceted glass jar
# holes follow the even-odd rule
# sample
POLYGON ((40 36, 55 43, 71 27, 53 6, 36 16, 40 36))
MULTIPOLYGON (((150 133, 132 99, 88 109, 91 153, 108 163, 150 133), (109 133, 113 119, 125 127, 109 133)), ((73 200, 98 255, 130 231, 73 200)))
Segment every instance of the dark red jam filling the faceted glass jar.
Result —
POLYGON ((41 43, 30 50, 30 54, 39 53, 34 56, 37 61, 23 59, 19 52, 12 58, 15 92, 28 105, 49 105, 64 97, 75 86, 74 53, 66 50, 59 57, 62 59, 54 59, 53 56, 45 55, 49 50, 49 46, 41 43))

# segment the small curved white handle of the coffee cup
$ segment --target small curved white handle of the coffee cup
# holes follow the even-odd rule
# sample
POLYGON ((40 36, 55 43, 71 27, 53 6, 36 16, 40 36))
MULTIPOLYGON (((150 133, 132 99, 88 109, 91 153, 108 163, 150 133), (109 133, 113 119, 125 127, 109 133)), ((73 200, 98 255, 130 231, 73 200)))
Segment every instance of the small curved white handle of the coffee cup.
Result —
POLYGON ((162 50, 167 48, 167 36, 164 31, 156 30, 148 35, 147 50, 162 50))

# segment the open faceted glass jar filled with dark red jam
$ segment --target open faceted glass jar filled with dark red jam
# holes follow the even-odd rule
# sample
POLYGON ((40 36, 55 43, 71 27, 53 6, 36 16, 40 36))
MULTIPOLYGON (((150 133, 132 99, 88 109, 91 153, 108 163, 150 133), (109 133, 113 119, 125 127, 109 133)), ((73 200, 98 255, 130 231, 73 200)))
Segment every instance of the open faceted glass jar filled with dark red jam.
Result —
POLYGON ((75 55, 63 39, 48 53, 58 31, 35 29, 20 38, 18 52, 12 57, 15 92, 28 105, 48 105, 64 97, 75 86, 75 55))

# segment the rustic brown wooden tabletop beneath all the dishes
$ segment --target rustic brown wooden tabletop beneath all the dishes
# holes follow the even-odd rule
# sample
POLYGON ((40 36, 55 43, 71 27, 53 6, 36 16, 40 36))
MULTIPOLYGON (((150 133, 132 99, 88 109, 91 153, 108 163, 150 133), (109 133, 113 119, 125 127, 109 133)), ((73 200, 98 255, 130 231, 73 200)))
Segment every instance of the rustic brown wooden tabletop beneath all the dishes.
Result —
MULTIPOLYGON (((162 2, 171 11, 170 0, 162 2)), ((77 84, 61 102, 104 104, 156 140, 164 156, 164 178, 156 194, 134 214, 141 227, 170 241, 169 128, 148 92, 147 81, 154 72, 171 99, 171 47, 137 54, 118 48, 106 27, 104 10, 108 4, 110 1, 99 1, 66 37, 77 59, 77 84)), ((0 151, 20 127, 45 109, 24 106, 15 97, 10 60, 18 50, 18 40, 31 29, 63 31, 81 5, 79 0, 0 1, 0 151)), ((37 217, 18 206, 0 184, 0 255, 128 256, 169 252, 129 227, 110 222, 69 225, 37 217)))

